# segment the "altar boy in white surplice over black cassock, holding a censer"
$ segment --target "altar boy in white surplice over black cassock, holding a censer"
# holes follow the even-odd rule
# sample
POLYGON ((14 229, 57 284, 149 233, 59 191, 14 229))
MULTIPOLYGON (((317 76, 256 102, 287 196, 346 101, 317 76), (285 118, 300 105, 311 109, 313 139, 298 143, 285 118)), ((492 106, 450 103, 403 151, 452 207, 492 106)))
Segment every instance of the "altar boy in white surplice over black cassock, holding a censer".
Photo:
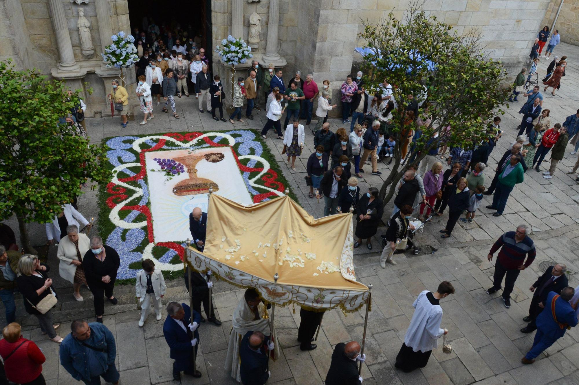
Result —
POLYGON ((455 288, 448 281, 438 285, 436 293, 424 290, 412 303, 414 314, 404 343, 396 356, 395 367, 404 372, 412 372, 417 368, 424 368, 433 348, 437 347, 438 339, 448 331, 440 328, 442 308, 439 300, 449 294, 454 294, 455 288))

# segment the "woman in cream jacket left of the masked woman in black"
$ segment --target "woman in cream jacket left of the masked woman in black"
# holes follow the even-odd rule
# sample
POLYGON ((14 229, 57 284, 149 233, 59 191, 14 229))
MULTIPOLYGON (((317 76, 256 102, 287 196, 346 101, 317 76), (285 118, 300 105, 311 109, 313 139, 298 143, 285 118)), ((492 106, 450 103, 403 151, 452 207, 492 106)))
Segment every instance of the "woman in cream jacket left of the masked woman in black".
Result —
MULTIPOLYGON (((90 249, 90 240, 86 234, 78 232, 76 225, 69 225, 66 229, 67 236, 63 236, 58 244, 56 256, 60 260, 58 272, 74 287, 74 298, 83 301, 80 295, 80 285, 86 285, 85 270, 82 266, 82 256, 90 249)), ((87 286, 88 287, 88 286, 87 286)))

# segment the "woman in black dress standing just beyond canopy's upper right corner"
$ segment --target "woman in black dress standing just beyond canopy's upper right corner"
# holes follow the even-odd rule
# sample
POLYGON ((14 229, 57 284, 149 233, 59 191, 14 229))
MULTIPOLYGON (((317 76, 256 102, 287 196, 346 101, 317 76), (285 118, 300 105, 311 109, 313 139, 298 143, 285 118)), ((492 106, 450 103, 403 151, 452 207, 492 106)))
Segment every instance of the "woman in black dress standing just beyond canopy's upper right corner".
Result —
POLYGON ((366 247, 372 250, 372 236, 378 231, 378 224, 384 214, 384 203, 378 197, 378 188, 368 188, 368 193, 362 195, 358 206, 356 206, 356 237, 354 249, 362 244, 362 239, 366 239, 366 247))

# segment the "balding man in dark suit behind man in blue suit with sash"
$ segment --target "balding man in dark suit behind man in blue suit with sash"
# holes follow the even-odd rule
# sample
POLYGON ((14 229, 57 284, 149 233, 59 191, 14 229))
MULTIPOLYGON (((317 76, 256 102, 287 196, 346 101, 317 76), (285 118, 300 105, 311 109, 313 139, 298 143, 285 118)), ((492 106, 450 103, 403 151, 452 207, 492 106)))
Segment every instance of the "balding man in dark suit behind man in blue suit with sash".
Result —
POLYGON ((563 264, 549 266, 547 271, 545 271, 545 273, 541 275, 535 283, 533 283, 533 286, 529 287, 529 290, 533 292, 533 299, 529 306, 529 315, 523 318, 523 321, 529 323, 526 327, 521 329, 523 333, 530 333, 537 329, 535 319, 545 308, 547 295, 551 291, 561 294, 561 290, 569 286, 567 276, 565 275, 566 271, 567 266, 563 264))

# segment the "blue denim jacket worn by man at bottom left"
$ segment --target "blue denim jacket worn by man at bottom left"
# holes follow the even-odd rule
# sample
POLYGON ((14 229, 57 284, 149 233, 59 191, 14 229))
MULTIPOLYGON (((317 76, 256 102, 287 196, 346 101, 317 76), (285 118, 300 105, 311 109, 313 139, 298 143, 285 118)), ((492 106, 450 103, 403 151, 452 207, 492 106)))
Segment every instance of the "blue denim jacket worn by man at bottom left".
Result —
POLYGON ((85 342, 87 345, 97 349, 105 349, 107 353, 94 351, 95 354, 89 356, 90 348, 83 346, 82 342, 74 338, 72 334, 66 336, 60 344, 60 364, 75 380, 90 380, 89 368, 94 362, 88 362, 87 356, 96 357, 98 365, 102 367, 102 373, 107 371, 109 365, 115 365, 116 345, 115 338, 111 331, 101 323, 90 323, 90 338, 85 342))

